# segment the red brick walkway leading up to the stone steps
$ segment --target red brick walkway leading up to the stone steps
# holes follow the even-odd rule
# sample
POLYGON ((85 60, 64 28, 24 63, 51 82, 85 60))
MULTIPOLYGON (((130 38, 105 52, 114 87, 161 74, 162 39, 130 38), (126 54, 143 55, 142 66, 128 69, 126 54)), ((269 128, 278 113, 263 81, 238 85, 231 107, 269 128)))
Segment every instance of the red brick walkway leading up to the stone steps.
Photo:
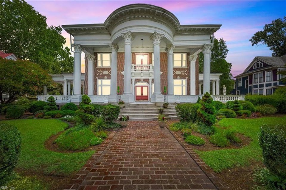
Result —
POLYGON ((84 180, 78 178, 80 187, 70 189, 216 189, 157 122, 129 122, 109 141, 100 157, 89 164, 92 167, 83 172, 84 180))

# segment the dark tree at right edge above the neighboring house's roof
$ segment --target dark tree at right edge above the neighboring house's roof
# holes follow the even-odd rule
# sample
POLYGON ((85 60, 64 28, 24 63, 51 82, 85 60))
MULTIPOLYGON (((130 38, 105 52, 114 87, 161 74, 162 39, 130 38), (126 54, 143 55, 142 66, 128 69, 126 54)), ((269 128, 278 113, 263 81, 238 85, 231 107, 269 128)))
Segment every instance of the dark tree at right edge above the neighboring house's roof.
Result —
POLYGON ((286 17, 278 18, 271 24, 265 24, 262 31, 256 32, 251 39, 252 46, 258 43, 266 44, 272 56, 282 56, 286 53, 286 17))

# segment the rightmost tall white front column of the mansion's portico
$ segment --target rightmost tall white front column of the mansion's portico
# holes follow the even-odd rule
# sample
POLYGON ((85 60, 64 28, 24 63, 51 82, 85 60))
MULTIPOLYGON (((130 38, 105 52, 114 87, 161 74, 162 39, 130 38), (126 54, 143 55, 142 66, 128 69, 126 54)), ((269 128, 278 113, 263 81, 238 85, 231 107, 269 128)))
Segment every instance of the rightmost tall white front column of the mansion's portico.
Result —
POLYGON ((209 92, 211 89, 211 59, 210 53, 213 44, 204 44, 203 51, 203 93, 209 92))

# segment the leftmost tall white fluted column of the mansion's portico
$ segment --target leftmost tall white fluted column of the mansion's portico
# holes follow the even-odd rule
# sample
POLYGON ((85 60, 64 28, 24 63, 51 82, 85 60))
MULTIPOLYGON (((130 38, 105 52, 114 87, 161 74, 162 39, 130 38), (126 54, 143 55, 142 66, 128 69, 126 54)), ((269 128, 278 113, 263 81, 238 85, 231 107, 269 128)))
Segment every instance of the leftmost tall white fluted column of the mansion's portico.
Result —
POLYGON ((81 95, 81 80, 80 80, 80 70, 81 70, 81 51, 82 47, 80 44, 73 44, 74 47, 74 94, 73 95, 81 95))

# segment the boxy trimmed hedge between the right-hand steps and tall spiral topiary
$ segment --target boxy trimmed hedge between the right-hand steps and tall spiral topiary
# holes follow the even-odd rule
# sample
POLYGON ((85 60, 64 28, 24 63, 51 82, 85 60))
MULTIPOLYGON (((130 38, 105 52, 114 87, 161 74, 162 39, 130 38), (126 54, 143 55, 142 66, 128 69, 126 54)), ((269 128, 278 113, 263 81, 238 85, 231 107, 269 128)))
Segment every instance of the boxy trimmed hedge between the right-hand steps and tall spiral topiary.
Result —
POLYGON ((178 104, 175 109, 180 122, 195 122, 198 117, 198 109, 200 108, 199 103, 183 103, 178 104))

